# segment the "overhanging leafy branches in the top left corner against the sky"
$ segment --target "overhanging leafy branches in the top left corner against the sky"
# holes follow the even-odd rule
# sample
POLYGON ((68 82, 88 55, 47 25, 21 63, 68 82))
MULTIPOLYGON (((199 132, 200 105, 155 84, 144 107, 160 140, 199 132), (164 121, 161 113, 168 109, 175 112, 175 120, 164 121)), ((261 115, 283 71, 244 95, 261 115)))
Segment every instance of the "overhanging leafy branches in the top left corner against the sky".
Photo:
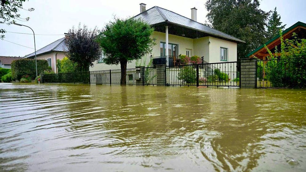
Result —
MULTIPOLYGON (((7 25, 11 25, 16 22, 16 20, 20 21, 29 21, 29 17, 21 18, 19 14, 19 10, 22 8, 22 3, 26 0, 0 0, 0 23, 5 23, 7 25)), ((34 8, 29 8, 28 11, 33 11, 34 8)), ((4 38, 4 33, 6 31, 4 29, 0 29, 0 38, 4 38)))

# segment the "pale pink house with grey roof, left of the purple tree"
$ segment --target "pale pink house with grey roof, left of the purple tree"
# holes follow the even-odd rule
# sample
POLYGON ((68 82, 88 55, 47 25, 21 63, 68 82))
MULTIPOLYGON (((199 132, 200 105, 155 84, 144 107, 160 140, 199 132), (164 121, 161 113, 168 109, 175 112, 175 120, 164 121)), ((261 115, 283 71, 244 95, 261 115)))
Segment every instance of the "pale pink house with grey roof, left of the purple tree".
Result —
MULTIPOLYGON (((61 38, 58 39, 55 42, 52 42, 51 44, 39 49, 36 51, 36 57, 37 59, 45 59, 48 61, 48 65, 51 66, 52 70, 57 73, 57 69, 56 69, 56 60, 62 60, 65 57, 65 53, 68 50, 67 48, 67 44, 66 44, 66 39, 67 36, 65 36, 65 38, 61 38)), ((35 52, 32 54, 27 55, 24 58, 35 58, 35 52)))

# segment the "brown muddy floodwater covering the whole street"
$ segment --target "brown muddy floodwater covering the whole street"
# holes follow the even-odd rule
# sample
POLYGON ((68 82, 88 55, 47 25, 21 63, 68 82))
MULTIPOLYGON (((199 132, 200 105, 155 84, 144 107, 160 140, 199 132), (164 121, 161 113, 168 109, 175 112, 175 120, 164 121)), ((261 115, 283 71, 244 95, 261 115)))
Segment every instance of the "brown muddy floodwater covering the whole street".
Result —
POLYGON ((304 171, 306 90, 0 85, 0 171, 304 171))

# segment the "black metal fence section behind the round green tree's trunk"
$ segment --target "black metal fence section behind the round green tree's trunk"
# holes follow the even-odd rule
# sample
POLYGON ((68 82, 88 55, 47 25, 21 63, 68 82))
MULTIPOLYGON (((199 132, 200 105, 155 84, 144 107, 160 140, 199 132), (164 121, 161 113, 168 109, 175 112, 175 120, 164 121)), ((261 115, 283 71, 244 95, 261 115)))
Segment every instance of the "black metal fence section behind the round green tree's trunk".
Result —
MULTIPOLYGON (((135 85, 136 68, 127 69, 127 85, 135 85)), ((121 80, 121 69, 100 70, 90 72, 91 84, 116 84, 119 85, 121 80)))

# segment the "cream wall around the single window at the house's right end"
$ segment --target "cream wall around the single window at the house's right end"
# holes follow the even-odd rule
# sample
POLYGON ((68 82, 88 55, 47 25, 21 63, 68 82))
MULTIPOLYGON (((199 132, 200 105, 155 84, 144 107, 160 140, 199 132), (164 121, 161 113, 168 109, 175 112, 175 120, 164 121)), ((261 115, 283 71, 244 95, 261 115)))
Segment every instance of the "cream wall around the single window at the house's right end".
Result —
POLYGON ((236 62, 237 43, 209 37, 209 63, 236 62), (220 47, 227 48, 227 61, 220 60, 220 47))

